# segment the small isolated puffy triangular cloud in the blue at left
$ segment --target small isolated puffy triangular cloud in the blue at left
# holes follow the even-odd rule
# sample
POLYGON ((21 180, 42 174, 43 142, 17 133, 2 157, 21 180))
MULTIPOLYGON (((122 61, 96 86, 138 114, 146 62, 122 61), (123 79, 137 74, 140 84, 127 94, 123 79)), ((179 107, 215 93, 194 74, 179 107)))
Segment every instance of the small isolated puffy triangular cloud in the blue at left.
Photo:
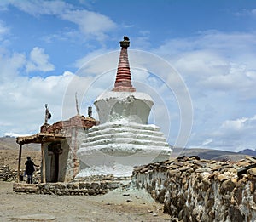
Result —
POLYGON ((30 52, 29 61, 26 64, 26 71, 53 71, 55 66, 49 63, 49 55, 44 54, 44 48, 34 47, 30 52))

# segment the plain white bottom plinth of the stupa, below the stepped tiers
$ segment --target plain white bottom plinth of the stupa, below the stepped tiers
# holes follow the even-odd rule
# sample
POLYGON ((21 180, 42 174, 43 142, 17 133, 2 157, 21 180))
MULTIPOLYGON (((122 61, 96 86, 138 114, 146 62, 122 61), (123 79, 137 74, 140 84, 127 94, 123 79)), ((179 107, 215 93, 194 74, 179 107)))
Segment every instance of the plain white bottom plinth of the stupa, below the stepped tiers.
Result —
POLYGON ((87 153, 84 151, 83 155, 80 156, 81 170, 76 178, 107 174, 113 174, 115 177, 128 177, 132 175, 134 167, 149 162, 168 160, 171 153, 171 149, 168 151, 148 150, 133 153, 122 153, 120 151, 90 151, 90 153, 87 153))

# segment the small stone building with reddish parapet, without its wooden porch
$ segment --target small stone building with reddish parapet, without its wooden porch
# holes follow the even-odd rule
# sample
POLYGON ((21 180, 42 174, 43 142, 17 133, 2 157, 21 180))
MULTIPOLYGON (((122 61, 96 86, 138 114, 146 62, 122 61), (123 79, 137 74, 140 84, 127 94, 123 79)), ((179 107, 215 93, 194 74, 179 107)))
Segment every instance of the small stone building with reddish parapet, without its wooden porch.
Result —
POLYGON ((97 124, 92 117, 75 116, 67 121, 41 127, 41 133, 54 133, 66 139, 45 143, 46 181, 69 181, 79 173, 77 151, 88 129, 97 124))

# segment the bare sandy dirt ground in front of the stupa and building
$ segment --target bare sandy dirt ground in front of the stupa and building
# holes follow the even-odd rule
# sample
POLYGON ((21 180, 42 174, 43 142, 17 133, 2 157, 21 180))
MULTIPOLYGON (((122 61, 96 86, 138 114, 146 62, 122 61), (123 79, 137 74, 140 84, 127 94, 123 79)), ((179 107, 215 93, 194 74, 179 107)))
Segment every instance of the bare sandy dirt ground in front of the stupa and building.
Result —
POLYGON ((144 191, 110 191, 104 196, 15 193, 0 182, 0 221, 169 221, 144 191))

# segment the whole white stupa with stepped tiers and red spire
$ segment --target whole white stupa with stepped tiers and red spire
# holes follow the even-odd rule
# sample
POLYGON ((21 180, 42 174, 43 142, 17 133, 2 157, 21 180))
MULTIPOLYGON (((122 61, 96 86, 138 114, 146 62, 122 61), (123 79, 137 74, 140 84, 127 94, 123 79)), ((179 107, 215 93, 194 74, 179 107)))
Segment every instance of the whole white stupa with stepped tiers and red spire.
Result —
POLYGON ((90 128, 78 156, 77 178, 92 174, 130 176, 134 166, 168 159, 172 150, 160 128, 148 124, 154 101, 131 85, 128 37, 120 42, 121 52, 114 88, 94 102, 100 124, 90 128))

